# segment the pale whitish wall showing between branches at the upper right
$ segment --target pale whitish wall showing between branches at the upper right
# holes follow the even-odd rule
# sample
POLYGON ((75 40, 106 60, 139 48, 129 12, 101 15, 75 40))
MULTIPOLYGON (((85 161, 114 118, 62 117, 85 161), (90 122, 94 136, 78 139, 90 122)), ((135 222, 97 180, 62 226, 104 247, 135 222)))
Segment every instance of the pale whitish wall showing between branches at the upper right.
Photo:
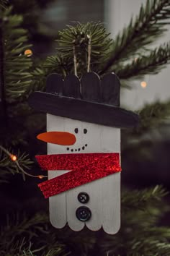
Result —
MULTIPOLYGON (((122 28, 128 24, 130 17, 139 12, 140 5, 145 4, 146 0, 106 0, 105 1, 105 25, 114 38, 122 28)), ((161 37, 153 46, 159 45, 170 40, 169 31, 161 37)), ((170 65, 163 69, 159 74, 146 75, 143 81, 147 82, 146 88, 141 88, 141 80, 133 82, 133 90, 123 90, 121 104, 131 109, 141 108, 145 103, 151 103, 160 99, 166 101, 170 99, 170 65)))

